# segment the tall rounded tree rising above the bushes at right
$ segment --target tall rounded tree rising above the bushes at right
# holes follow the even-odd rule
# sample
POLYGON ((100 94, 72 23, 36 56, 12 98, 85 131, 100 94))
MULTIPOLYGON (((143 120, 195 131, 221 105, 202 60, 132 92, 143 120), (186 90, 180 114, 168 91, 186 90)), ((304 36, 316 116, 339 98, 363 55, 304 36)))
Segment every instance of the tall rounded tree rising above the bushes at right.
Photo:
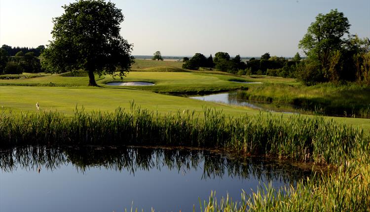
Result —
POLYGON ((316 16, 316 21, 308 27, 298 47, 303 49, 309 59, 318 60, 325 74, 330 69, 331 57, 342 49, 346 41, 343 35, 349 33, 350 26, 348 19, 337 9, 325 15, 320 13, 316 16))

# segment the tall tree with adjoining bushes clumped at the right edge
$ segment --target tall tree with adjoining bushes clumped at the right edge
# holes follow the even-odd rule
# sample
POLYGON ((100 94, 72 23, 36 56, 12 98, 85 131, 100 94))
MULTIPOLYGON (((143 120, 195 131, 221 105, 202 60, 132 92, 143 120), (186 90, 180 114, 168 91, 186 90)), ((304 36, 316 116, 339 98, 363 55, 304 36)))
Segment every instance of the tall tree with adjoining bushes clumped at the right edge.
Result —
POLYGON ((368 38, 362 40, 357 35, 344 38, 349 34, 349 27, 348 19, 337 9, 316 16, 316 21, 311 23, 298 44, 308 56, 307 67, 300 67, 303 75, 299 76, 305 84, 364 81, 361 64, 363 56, 369 52, 366 46, 370 42, 368 38))

